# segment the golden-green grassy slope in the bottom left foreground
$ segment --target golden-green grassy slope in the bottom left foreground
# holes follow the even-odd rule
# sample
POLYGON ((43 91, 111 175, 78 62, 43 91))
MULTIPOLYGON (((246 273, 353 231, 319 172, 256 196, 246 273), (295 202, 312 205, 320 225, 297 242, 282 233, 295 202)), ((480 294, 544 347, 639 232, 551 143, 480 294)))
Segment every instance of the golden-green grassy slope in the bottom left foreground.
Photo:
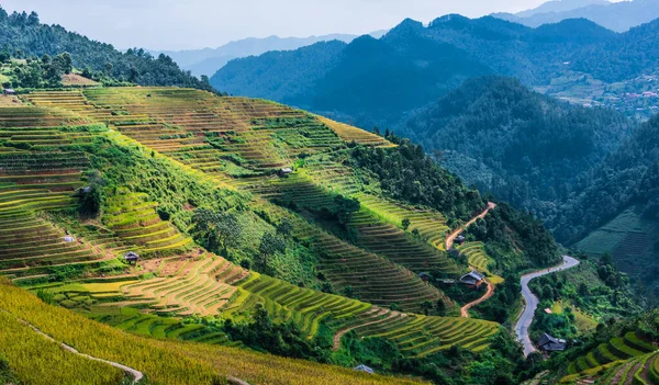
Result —
MULTIPOLYGON (((10 370, 31 384, 52 384, 48 366, 74 360, 72 353, 59 348, 45 349, 47 340, 22 322, 30 322, 56 341, 66 341, 80 352, 105 360, 118 361, 142 371, 149 381, 158 384, 216 384, 227 376, 239 377, 250 383, 269 384, 412 384, 414 382, 368 375, 347 369, 314 364, 301 360, 281 359, 248 352, 237 348, 157 341, 136 337, 111 328, 66 309, 42 303, 24 290, 18 288, 0 278, 0 322, 2 339, 9 343, 0 346, 10 370), (19 352, 13 346, 26 348, 19 352), (103 341, 99 344, 98 341, 103 341), (59 352, 59 353, 58 353, 59 352), (25 353, 29 353, 27 355, 25 353), (58 360, 55 358, 60 354, 58 360), (69 354, 69 356, 67 356, 69 354)), ((54 343, 53 343, 54 346, 54 343)), ((78 359, 75 365, 59 367, 62 384, 74 384, 86 378, 96 384, 120 384, 122 376, 109 365, 78 359), (66 367, 69 371, 63 371, 66 367), (93 375, 86 371, 93 370, 93 375), (109 375, 104 375, 108 373, 109 375), (104 376, 103 376, 104 375, 104 376)))

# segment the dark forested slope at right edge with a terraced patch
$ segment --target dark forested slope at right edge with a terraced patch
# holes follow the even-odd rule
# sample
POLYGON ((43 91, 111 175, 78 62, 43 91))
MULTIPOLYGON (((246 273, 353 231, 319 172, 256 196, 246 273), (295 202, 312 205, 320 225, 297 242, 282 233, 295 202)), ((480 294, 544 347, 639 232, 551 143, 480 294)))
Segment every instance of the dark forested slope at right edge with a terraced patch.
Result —
POLYGON ((613 254, 618 268, 657 293, 657 145, 659 117, 641 125, 592 172, 592 182, 561 207, 551 223, 560 239, 596 256, 613 254), (603 241, 605 239, 606 241, 603 241))

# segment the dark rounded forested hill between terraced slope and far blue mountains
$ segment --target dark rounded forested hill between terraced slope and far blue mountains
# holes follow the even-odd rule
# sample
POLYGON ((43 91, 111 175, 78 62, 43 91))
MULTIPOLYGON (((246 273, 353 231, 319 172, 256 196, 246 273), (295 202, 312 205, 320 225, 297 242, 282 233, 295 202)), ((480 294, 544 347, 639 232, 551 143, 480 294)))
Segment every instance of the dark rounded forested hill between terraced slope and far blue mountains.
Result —
POLYGON ((587 173, 633 129, 617 112, 570 105, 501 77, 468 80, 399 128, 468 184, 545 219, 589 185, 587 173))

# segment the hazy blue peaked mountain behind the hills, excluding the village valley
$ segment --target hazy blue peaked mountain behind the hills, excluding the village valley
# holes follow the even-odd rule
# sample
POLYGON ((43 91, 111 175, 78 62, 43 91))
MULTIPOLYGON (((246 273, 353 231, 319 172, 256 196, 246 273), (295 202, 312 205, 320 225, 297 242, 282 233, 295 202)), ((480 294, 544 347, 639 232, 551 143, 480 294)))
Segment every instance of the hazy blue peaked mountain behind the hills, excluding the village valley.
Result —
POLYGON ((468 78, 496 73, 548 83, 566 61, 616 38, 583 19, 538 29, 491 16, 447 15, 428 26, 405 20, 380 39, 362 36, 233 60, 211 83, 364 127, 392 126, 468 78))

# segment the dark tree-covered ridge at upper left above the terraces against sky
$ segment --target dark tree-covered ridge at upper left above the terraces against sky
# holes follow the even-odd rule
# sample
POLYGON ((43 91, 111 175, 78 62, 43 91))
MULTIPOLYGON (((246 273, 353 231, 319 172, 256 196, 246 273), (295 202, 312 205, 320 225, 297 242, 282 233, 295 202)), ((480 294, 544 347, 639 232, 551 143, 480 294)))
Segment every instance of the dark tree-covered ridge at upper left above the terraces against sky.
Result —
MULTIPOLYGON (((144 49, 121 53, 110 44, 91 41, 59 25, 45 25, 35 12, 8 14, 0 8, 0 49, 15 58, 70 54, 70 63, 87 75, 105 73, 120 82, 142 86, 179 86, 214 91, 209 79, 181 70, 170 57, 154 58, 144 49)), ((34 63, 34 60, 33 60, 34 63)))

